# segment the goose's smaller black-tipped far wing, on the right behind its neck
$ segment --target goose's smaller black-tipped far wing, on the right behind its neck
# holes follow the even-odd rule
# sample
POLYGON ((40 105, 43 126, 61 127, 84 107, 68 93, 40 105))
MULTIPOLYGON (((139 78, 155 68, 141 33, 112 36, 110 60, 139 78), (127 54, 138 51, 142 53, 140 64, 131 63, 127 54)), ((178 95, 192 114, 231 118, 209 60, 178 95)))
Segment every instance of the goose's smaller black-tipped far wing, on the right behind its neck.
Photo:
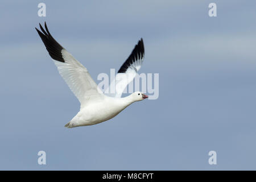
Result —
POLYGON ((105 94, 112 97, 121 97, 126 86, 133 81, 136 73, 141 69, 144 60, 144 44, 143 40, 139 40, 134 47, 130 56, 119 69, 115 79, 111 82, 109 88, 105 90, 105 94))

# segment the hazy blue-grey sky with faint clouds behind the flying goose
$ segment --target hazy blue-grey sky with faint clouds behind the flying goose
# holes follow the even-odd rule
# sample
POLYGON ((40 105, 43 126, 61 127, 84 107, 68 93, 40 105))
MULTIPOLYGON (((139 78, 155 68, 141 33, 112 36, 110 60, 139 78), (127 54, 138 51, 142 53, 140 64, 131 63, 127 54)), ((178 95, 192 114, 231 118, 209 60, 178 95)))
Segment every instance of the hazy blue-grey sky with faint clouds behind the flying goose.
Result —
MULTIPOLYGON (((1 1, 0 169, 256 169, 255 1, 1 1), (46 3, 46 17, 38 4, 46 3), (210 18, 208 5, 217 4, 210 18), (35 27, 97 79, 140 38, 159 98, 67 129, 79 101, 35 27), (47 164, 39 165, 38 151, 47 164), (217 165, 208 152, 217 152, 217 165)), ((96 82, 99 82, 96 80, 96 82)))

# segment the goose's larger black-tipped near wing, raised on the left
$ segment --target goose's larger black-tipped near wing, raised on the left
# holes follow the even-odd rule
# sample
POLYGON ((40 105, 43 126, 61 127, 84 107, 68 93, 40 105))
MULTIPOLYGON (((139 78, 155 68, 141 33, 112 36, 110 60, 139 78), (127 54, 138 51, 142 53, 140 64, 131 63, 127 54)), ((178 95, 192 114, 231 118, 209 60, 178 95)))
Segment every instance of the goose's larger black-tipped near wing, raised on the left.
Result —
POLYGON ((40 25, 41 31, 36 28, 40 38, 43 40, 49 55, 52 57, 60 75, 67 82, 69 88, 75 94, 79 102, 82 104, 92 97, 102 96, 102 92, 98 89, 96 82, 92 79, 87 69, 79 63, 65 48, 49 33, 46 22, 44 28, 40 25))

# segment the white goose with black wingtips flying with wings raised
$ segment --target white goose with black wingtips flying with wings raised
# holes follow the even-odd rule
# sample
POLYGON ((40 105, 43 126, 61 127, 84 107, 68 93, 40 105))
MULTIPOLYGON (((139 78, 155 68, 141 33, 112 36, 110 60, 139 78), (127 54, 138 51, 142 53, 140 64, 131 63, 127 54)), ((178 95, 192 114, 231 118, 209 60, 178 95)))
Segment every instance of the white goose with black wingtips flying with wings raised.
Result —
POLYGON ((44 46, 46 46, 60 75, 80 102, 80 111, 65 127, 89 126, 107 121, 130 104, 133 104, 133 102, 148 98, 142 92, 134 92, 127 97, 121 98, 127 84, 133 81, 136 73, 141 68, 144 59, 142 39, 134 47, 131 55, 123 63, 114 81, 110 84, 110 88, 114 85, 115 92, 109 93, 109 96, 107 96, 98 88, 88 70, 52 37, 46 22, 44 22, 45 30, 40 23, 39 26, 41 31, 38 28, 36 28, 36 31, 44 46))

